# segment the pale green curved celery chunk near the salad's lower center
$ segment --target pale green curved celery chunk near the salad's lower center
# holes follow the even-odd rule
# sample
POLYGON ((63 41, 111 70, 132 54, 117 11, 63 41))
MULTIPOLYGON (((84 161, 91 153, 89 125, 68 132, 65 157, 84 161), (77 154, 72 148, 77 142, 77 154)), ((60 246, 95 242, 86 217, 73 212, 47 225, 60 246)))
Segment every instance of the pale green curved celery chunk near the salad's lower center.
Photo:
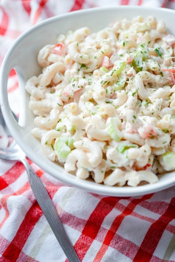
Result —
POLYGON ((122 139, 122 133, 119 130, 120 120, 117 117, 108 117, 106 121, 108 134, 115 141, 120 141, 122 139))

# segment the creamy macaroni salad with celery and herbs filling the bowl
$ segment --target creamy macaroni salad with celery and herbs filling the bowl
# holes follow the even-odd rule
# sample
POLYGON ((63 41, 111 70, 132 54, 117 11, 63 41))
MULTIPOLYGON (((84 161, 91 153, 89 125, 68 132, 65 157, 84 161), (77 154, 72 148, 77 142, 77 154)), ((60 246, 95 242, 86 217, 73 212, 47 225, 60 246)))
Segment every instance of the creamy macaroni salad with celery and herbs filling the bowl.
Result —
POLYGON ((175 169, 175 37, 149 16, 60 34, 26 82, 32 134, 81 179, 155 183, 175 169))

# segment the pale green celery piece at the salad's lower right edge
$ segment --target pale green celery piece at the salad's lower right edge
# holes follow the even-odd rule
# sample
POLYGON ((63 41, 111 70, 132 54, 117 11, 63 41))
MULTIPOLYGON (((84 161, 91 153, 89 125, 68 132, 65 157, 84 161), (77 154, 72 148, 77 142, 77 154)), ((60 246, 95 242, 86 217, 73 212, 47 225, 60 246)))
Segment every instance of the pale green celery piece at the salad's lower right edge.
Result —
POLYGON ((159 162, 161 166, 166 171, 175 170, 175 153, 174 152, 166 152, 159 157, 159 162))

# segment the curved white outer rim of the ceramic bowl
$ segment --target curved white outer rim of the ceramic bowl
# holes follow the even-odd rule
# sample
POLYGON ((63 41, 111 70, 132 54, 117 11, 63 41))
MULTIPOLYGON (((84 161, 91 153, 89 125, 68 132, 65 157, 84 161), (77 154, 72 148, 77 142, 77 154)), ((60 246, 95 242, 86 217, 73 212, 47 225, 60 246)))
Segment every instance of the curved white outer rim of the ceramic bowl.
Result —
MULTIPOLYGON (((45 24, 49 24, 52 23, 53 21, 56 20, 61 20, 62 17, 73 17, 76 16, 77 14, 82 14, 82 13, 96 13, 96 12, 101 12, 104 10, 113 10, 115 8, 115 10, 152 10, 152 11, 159 11, 162 13, 173 13, 175 15, 175 10, 172 9, 168 9, 168 8, 149 8, 149 7, 143 7, 143 6, 109 6, 109 7, 95 7, 95 8, 87 8, 87 9, 83 9, 83 10, 77 10, 77 11, 73 11, 73 12, 69 12, 69 13, 65 13, 62 15, 58 15, 58 16, 54 16, 54 17, 50 17, 47 18, 44 21, 39 22, 36 25, 31 26, 31 28, 27 29, 26 31, 24 31, 13 43, 13 45, 9 48, 6 56, 3 59, 3 63, 1 65, 1 74, 0 74, 0 105, 1 105, 1 109, 2 109, 2 113, 3 116, 5 118, 5 121, 7 123, 8 128, 11 130, 11 134, 12 136, 15 138, 15 140, 17 141, 17 143, 20 145, 20 147, 23 149, 23 151, 26 153, 26 155, 32 160, 33 163, 35 163, 36 165, 38 165, 38 167, 41 167, 43 170, 45 170, 48 174, 50 174, 51 176, 54 176, 55 178, 57 178, 58 180, 62 181, 63 183, 66 183, 67 185, 70 186, 74 186, 77 188, 81 188, 82 190, 86 190, 89 192, 93 192, 95 194, 100 194, 100 195, 107 195, 107 196, 115 196, 115 197, 130 197, 130 196, 140 196, 140 195, 144 195, 144 194, 150 194, 150 193, 154 193, 154 192, 158 192, 161 190, 164 190, 166 188, 169 188, 173 185, 175 185, 175 176, 174 176, 174 180, 173 181, 158 181, 157 183, 153 183, 153 184, 146 184, 146 185, 142 185, 142 186, 137 186, 137 187, 111 187, 111 186, 106 186, 106 185, 102 185, 102 184, 97 184, 95 182, 91 182, 89 183, 89 181, 87 180, 81 180, 78 179, 76 177, 73 177, 73 179, 70 179, 70 176, 72 176, 71 174, 69 174, 68 176, 62 176, 59 177, 56 175, 56 171, 52 172, 50 171, 50 167, 48 167, 47 165, 45 165, 45 163, 41 162, 41 160, 39 158, 35 158, 35 156, 33 156, 32 154, 32 149, 29 147, 25 148, 25 145, 21 139, 20 134, 18 134, 17 132, 17 128, 14 128, 14 121, 12 121, 12 114, 10 113, 10 107, 9 105, 7 105, 7 107, 4 107, 3 104, 3 99, 6 99, 6 96, 4 95, 3 92, 3 73, 6 70, 6 64, 8 63, 8 60, 11 56, 11 54, 13 53, 14 48, 20 43, 20 41, 25 38, 27 35, 29 35, 31 32, 33 32, 34 30, 37 30, 40 27, 45 26, 45 24), (78 183, 77 183, 78 181, 78 183)), ((124 16, 123 16, 124 17, 124 16)), ((9 72, 8 72, 9 73, 9 72)), ((63 169, 63 167, 60 167, 61 169, 63 169)), ((62 172, 66 172, 64 169, 62 172)), ((68 173, 66 173, 68 174, 68 173)))

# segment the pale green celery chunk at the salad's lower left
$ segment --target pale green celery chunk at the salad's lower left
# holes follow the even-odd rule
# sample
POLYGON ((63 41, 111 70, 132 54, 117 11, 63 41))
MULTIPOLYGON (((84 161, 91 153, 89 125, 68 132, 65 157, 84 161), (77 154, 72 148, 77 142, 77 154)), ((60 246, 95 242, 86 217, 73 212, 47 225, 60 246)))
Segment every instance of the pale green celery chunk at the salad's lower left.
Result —
POLYGON ((68 138, 65 138, 63 136, 56 138, 54 150, 58 158, 65 159, 70 153, 70 147, 66 143, 68 143, 68 138))

